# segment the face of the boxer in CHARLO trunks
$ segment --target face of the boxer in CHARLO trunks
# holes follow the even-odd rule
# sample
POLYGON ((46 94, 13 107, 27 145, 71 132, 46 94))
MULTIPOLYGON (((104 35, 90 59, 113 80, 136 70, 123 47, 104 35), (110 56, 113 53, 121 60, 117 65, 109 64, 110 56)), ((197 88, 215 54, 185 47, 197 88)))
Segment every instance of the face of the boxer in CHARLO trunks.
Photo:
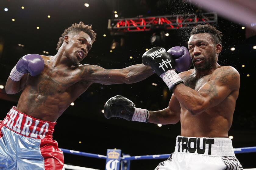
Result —
POLYGON ((92 46, 91 37, 83 31, 65 36, 64 41, 66 42, 65 53, 73 64, 82 61, 92 46))

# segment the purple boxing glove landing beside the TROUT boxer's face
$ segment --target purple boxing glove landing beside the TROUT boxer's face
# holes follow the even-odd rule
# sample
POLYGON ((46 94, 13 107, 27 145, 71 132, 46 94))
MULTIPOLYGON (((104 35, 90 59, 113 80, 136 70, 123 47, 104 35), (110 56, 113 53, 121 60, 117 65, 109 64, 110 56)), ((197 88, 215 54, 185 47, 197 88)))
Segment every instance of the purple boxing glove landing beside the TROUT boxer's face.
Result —
POLYGON ((172 54, 175 60, 175 70, 183 72, 189 69, 192 64, 192 59, 186 47, 172 47, 167 52, 172 54))

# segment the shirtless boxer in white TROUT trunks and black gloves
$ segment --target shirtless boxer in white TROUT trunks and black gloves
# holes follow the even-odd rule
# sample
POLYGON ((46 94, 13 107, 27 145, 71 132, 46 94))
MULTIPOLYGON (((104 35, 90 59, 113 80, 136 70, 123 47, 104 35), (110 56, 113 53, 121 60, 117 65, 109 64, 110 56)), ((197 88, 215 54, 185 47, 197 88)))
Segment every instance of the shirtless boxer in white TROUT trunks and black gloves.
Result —
MULTIPOLYGON (((231 66, 217 63, 222 50, 221 32, 210 25, 197 25, 190 34, 187 60, 194 69, 177 74, 182 62, 174 61, 173 47, 152 57, 148 50, 142 56, 173 92, 169 106, 159 111, 136 108, 123 96, 110 98, 104 106, 104 115, 126 120, 155 124, 176 124, 180 121, 181 135, 176 138, 174 153, 155 170, 228 170, 243 169, 235 157, 228 131, 232 124, 240 75, 231 66), (189 56, 189 57, 188 57, 189 56), (190 58, 191 56, 191 58, 190 58)), ((183 56, 184 57, 184 56, 183 56)))

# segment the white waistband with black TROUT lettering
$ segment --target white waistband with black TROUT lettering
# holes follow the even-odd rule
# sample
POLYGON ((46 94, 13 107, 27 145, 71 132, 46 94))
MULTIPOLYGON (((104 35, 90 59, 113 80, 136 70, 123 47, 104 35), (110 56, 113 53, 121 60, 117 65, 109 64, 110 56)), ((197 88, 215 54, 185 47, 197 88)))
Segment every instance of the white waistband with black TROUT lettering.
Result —
POLYGON ((196 138, 177 136, 175 152, 212 156, 235 156, 229 138, 196 138))

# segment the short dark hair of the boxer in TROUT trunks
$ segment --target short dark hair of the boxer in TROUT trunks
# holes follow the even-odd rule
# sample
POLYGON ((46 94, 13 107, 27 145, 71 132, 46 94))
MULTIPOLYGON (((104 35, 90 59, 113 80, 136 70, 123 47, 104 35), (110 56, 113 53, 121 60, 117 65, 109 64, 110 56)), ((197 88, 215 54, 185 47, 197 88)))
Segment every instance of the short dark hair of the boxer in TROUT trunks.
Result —
POLYGON ((194 35, 194 34, 200 34, 200 33, 208 33, 211 35, 212 37, 212 40, 215 44, 221 44, 222 45, 222 42, 221 42, 221 37, 223 36, 221 34, 221 32, 219 30, 217 30, 214 26, 212 25, 197 25, 195 26, 191 33, 190 33, 190 36, 194 35))

